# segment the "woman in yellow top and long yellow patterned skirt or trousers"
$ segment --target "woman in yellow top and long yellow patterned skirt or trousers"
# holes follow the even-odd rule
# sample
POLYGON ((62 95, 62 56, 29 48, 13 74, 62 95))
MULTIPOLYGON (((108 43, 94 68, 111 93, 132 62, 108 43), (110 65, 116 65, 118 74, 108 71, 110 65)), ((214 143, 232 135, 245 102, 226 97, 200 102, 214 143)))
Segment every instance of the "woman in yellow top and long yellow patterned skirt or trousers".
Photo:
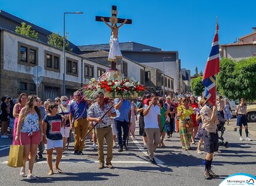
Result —
POLYGON ((192 136, 190 123, 192 122, 191 115, 192 113, 194 113, 193 108, 189 107, 188 103, 189 103, 189 99, 186 97, 183 97, 183 99, 181 100, 181 106, 177 108, 178 117, 180 118, 180 121, 179 121, 180 140, 181 140, 181 146, 184 150, 190 149, 191 136, 192 136))

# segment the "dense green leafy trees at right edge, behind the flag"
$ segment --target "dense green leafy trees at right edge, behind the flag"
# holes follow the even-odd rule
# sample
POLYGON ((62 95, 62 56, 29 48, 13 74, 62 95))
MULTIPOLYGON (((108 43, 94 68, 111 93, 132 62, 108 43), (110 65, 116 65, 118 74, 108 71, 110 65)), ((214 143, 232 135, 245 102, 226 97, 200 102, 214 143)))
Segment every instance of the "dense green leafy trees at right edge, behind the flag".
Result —
POLYGON ((256 99, 256 58, 240 60, 221 59, 217 87, 229 99, 256 99))

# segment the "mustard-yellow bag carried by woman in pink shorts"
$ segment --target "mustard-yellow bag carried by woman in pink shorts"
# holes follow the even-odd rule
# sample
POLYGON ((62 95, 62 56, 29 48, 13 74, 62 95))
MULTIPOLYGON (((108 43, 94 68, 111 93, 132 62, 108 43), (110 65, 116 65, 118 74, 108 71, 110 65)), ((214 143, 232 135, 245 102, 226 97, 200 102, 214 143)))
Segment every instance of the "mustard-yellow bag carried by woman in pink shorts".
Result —
POLYGON ((10 152, 7 166, 20 168, 23 166, 23 145, 10 145, 10 152))

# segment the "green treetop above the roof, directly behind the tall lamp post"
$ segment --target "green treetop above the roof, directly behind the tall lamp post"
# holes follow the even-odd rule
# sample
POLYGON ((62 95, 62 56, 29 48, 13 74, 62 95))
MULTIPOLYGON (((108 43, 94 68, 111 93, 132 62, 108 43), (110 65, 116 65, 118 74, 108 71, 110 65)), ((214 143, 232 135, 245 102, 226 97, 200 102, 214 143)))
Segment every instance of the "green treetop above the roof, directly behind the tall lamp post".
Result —
MULTIPOLYGON (((66 51, 72 51, 72 49, 69 48, 69 42, 67 41, 67 36, 65 36, 65 50, 66 51)), ((60 33, 52 33, 48 36, 48 44, 51 46, 58 47, 60 49, 63 49, 63 37, 60 36, 60 33)))

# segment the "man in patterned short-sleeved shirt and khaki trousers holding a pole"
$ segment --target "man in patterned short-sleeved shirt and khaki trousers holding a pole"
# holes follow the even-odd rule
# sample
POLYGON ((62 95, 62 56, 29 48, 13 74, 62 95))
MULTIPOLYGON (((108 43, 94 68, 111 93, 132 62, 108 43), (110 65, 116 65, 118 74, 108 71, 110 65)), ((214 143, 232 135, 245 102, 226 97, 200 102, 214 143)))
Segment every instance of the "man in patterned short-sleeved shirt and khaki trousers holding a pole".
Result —
POLYGON ((98 92, 96 94, 96 102, 89 107, 87 120, 97 123, 96 127, 96 135, 97 135, 97 145, 98 145, 98 155, 99 155, 99 169, 104 168, 104 150, 103 143, 104 138, 107 143, 107 159, 106 164, 110 169, 113 169, 113 165, 111 163, 113 158, 113 133, 112 133, 112 121, 110 117, 117 116, 115 113, 115 109, 112 108, 104 118, 101 118, 104 113, 109 110, 111 107, 110 103, 104 103, 104 93, 98 92))

